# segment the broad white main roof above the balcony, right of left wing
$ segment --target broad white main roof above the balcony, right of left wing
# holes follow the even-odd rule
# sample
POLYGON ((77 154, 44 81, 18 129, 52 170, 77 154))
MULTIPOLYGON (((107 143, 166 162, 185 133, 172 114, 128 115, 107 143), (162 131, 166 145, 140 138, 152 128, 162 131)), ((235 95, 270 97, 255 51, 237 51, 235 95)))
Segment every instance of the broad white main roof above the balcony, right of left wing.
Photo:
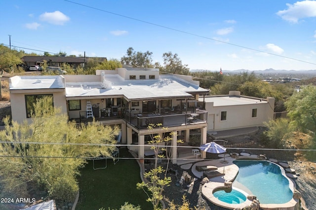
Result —
POLYGON ((101 82, 67 83, 66 97, 124 95, 127 99, 190 97, 188 92, 207 92, 198 85, 172 75, 160 75, 159 79, 124 80, 119 75, 105 75, 112 87, 102 89, 101 82))

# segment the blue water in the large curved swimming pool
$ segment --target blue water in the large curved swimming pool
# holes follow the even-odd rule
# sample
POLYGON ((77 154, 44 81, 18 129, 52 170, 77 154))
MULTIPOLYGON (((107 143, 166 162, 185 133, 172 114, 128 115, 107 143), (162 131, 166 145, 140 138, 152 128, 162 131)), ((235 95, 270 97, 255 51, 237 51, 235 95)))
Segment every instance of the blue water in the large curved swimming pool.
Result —
POLYGON ((278 165, 268 161, 238 161, 235 181, 247 187, 261 204, 284 204, 293 197, 289 181, 281 174, 278 165))

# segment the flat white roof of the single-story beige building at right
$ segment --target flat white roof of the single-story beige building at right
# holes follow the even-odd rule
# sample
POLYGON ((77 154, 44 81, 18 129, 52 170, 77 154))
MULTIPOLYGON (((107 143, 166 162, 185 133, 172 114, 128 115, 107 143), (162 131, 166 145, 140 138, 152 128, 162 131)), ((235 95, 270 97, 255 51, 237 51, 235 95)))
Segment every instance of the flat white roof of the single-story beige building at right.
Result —
MULTIPOLYGON (((203 98, 199 98, 203 101, 203 98)), ((214 102, 214 106, 234 106, 244 104, 258 104, 268 103, 267 101, 253 98, 246 98, 242 96, 217 96, 217 97, 205 97, 205 103, 214 102)))

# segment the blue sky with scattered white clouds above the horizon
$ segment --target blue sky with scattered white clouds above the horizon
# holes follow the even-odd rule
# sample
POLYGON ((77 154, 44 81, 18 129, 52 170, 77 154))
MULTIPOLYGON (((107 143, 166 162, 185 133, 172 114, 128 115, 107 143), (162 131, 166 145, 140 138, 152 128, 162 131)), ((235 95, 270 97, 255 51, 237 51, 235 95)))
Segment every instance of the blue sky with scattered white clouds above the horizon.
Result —
POLYGON ((0 29, 2 44, 51 53, 119 60, 133 47, 190 69, 316 69, 316 0, 0 0, 0 29))

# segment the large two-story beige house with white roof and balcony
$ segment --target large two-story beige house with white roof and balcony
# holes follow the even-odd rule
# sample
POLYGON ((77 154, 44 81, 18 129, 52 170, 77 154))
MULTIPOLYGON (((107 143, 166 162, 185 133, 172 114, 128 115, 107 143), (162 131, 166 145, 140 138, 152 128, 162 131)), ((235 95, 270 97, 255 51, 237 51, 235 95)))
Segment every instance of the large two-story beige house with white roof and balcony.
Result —
MULTIPOLYGON (((29 120, 36 98, 50 96, 70 120, 87 122, 94 117, 106 125, 119 125, 121 142, 140 158, 152 153, 146 147, 153 133, 147 128, 149 123, 184 133, 187 142, 190 131, 198 130, 200 143, 206 143, 207 112, 198 98, 209 91, 190 76, 159 75, 159 69, 118 68, 97 70, 96 75, 14 76, 9 83, 12 120, 18 122, 29 120)), ((164 132, 163 128, 154 130, 164 132)), ((177 138, 173 137, 172 145, 176 146, 177 138)), ((176 163, 177 148, 171 152, 176 163)))

